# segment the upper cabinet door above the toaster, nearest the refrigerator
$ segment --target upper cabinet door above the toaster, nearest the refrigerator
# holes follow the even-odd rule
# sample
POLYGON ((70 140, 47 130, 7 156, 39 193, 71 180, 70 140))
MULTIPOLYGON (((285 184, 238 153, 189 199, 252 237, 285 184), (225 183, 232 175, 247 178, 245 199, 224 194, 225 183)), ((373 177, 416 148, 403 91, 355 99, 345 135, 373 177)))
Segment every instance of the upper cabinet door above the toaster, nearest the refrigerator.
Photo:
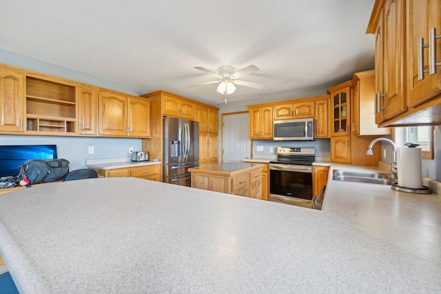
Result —
POLYGON ((127 101, 127 127, 130 137, 150 137, 149 99, 129 96, 127 101))

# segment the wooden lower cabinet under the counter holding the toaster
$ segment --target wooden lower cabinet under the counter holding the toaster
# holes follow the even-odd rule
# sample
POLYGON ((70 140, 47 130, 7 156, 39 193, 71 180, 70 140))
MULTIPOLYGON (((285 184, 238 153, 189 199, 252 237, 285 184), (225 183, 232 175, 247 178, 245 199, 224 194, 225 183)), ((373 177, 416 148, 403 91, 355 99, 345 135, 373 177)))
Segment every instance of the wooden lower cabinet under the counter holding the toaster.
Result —
POLYGON ((161 182, 161 164, 136 166, 133 168, 112 168, 110 170, 94 168, 94 170, 103 177, 138 177, 139 179, 161 182))

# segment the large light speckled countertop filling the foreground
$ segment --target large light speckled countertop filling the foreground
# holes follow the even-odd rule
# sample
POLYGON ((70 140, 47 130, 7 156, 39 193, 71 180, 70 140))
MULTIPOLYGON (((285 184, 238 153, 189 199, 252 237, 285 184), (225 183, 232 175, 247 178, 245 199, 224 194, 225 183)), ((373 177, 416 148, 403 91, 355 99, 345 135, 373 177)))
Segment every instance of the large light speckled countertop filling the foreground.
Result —
POLYGON ((50 183, 0 197, 0 253, 22 293, 440 293, 439 197, 349 184, 329 182, 320 211, 132 177, 50 183))

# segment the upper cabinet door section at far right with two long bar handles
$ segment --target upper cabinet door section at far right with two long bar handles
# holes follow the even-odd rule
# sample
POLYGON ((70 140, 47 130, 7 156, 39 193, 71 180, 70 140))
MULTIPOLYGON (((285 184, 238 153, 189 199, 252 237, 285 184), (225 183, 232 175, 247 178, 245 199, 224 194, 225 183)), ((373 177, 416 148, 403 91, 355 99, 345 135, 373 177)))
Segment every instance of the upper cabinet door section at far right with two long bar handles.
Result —
POLYGON ((435 38, 435 35, 441 36, 441 1, 408 0, 406 9, 407 55, 410 61, 408 104, 409 107, 415 107, 441 93, 441 39, 435 38), (421 50, 418 48, 420 39, 423 47, 421 50), (421 64, 418 62, 420 57, 421 64))

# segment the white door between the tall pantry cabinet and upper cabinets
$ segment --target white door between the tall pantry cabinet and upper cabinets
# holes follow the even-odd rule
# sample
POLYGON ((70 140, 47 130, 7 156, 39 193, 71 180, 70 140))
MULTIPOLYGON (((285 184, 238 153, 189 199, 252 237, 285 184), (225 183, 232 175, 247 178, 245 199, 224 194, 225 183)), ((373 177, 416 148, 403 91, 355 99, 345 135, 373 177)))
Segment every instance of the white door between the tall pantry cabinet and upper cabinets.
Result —
POLYGON ((242 161, 251 155, 249 114, 223 116, 223 162, 242 161))

